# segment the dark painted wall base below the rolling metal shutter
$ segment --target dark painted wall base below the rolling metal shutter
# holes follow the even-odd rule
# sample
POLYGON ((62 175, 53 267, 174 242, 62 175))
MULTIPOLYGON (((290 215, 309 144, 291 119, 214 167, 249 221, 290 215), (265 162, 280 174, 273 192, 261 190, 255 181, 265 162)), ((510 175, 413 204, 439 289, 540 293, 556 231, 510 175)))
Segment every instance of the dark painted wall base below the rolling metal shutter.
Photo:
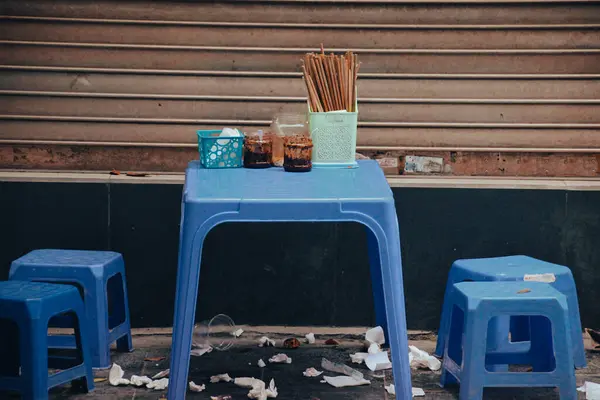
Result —
MULTIPOLYGON (((169 326, 180 185, 0 183, 0 278, 36 248, 123 253, 133 325, 169 326)), ((408 325, 437 329, 458 258, 527 254, 572 268, 583 324, 600 326, 600 192, 394 189, 408 325)), ((228 224, 204 247, 197 320, 374 323, 357 224, 228 224)))

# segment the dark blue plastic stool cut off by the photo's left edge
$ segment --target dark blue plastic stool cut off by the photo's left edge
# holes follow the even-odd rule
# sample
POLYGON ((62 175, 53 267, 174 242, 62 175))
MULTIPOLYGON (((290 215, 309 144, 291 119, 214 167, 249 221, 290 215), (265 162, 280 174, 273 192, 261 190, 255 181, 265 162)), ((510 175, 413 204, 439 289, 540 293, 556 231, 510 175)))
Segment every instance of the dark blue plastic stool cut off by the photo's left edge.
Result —
MULTIPOLYGON (((37 282, 0 282, 0 321, 3 325, 0 356, 0 391, 19 392, 24 400, 48 398, 48 389, 79 380, 85 391, 94 389, 85 312, 72 286, 37 282), (76 357, 48 357, 48 322, 61 313, 73 313, 76 357), (8 324, 18 328, 18 344, 10 340, 8 324), (6 341, 9 340, 10 343, 6 341), (66 365, 75 363, 75 366, 66 365), (48 368, 62 371, 48 376, 48 368), (83 378, 83 379, 79 379, 83 378)), ((15 332, 16 333, 16 332, 15 332)), ((15 335, 16 336, 16 335, 15 335)))

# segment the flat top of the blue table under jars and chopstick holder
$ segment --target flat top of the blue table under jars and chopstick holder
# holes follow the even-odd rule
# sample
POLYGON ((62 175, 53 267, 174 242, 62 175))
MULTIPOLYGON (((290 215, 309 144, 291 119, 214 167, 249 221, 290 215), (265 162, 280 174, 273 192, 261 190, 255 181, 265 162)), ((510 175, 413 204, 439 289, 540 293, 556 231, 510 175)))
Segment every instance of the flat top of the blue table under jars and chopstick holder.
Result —
POLYGON ((205 169, 192 161, 186 170, 184 201, 393 200, 377 162, 361 160, 358 165, 292 173, 282 168, 205 169))

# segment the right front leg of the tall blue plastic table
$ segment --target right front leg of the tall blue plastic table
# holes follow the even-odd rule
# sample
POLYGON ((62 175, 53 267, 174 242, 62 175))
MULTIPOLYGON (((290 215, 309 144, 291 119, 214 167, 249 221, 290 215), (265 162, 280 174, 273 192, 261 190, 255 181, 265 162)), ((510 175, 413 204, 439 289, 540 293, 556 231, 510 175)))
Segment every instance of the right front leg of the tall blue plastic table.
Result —
MULTIPOLYGON (((386 204, 385 212, 387 217, 382 222, 383 226, 366 225, 373 230, 379 248, 380 274, 383 280, 396 396, 399 399, 410 399, 412 398, 412 384, 408 363, 408 336, 400 255, 400 232, 394 204, 386 204)), ((374 270, 372 267, 371 271, 374 270)))

